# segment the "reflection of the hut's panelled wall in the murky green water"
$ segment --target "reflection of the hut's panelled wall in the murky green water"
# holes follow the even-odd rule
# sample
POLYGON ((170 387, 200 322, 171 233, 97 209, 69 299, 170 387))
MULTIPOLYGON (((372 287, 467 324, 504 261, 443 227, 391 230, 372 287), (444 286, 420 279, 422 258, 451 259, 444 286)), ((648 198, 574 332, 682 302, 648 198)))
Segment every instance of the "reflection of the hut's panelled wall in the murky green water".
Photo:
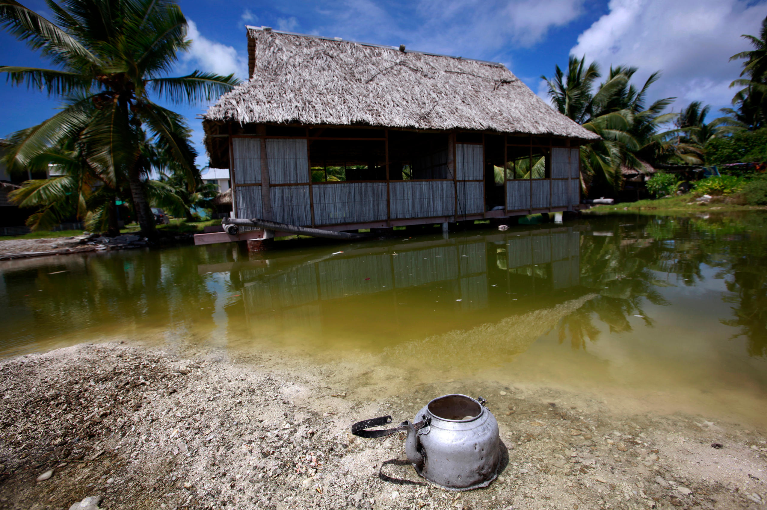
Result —
MULTIPOLYGON (((353 252, 269 271, 249 269, 246 262, 236 272, 244 284, 245 313, 259 328, 272 324, 278 330, 301 324, 321 331, 323 317, 336 321, 349 308, 360 313, 356 306, 360 300, 367 300, 371 307, 363 313, 391 314, 393 320, 407 324, 420 317, 416 308, 402 308, 402 301, 408 301, 403 296, 412 292, 433 291, 435 297, 430 299, 442 300, 439 308, 449 303, 460 314, 491 308, 494 296, 510 299, 509 291, 490 288, 490 279, 502 284, 499 268, 517 278, 535 280, 534 285, 530 284, 535 294, 578 285, 578 236, 571 228, 557 228, 509 232, 479 240, 471 237, 387 248, 363 246, 353 252), (499 245, 505 247, 502 252, 499 245), (489 252, 493 251, 495 264, 489 261, 489 252), (490 277, 489 271, 493 273, 490 277), (374 297, 384 293, 391 298, 374 297), (301 322, 295 322, 299 318, 301 322)), ((423 295, 409 302, 422 302, 423 295)))

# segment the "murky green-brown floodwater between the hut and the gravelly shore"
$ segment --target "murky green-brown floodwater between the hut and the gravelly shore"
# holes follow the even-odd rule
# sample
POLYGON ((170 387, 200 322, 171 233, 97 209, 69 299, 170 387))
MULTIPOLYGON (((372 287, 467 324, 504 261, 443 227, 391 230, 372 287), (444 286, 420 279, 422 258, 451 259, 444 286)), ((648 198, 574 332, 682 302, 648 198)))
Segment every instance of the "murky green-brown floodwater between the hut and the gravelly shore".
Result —
POLYGON ((183 341, 767 425, 767 215, 400 233, 0 262, 0 355, 183 341))

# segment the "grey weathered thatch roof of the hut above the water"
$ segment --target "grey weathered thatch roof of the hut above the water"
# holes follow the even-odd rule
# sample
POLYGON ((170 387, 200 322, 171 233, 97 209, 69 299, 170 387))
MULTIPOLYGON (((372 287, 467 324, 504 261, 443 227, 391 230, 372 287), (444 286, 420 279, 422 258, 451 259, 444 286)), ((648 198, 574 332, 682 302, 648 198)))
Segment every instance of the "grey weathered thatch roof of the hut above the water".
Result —
POLYGON ((252 77, 205 119, 597 140, 503 64, 249 27, 252 77))

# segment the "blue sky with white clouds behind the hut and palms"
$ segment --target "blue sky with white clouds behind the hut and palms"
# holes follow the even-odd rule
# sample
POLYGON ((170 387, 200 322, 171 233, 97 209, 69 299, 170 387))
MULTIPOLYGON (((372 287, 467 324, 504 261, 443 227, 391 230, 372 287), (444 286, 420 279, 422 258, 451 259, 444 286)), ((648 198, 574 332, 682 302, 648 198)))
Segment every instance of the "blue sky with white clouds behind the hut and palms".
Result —
MULTIPOLYGON (((41 0, 22 0, 45 15, 41 0)), ((692 100, 714 109, 728 106, 729 82, 739 74, 730 55, 748 49, 740 35, 758 34, 767 0, 332 0, 248 2, 181 0, 192 49, 178 74, 193 69, 234 72, 245 78, 245 25, 341 37, 505 64, 538 94, 540 76, 564 67, 569 54, 601 64, 639 67, 637 81, 653 71, 663 77, 651 98, 678 97, 676 110, 692 100)), ((3 65, 47 66, 23 43, 0 32, 3 65)), ((0 81, 0 137, 53 114, 56 100, 0 81)), ((194 130, 198 164, 206 165, 202 126, 207 105, 173 106, 194 130)))

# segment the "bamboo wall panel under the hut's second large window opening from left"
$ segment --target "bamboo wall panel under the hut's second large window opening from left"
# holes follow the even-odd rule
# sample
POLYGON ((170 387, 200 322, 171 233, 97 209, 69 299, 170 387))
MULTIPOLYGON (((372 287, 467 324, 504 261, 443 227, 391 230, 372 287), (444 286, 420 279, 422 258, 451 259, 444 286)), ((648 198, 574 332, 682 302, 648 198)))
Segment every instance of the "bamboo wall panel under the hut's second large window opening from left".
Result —
POLYGON ((456 211, 453 181, 393 182, 389 193, 393 219, 453 216, 456 211))

